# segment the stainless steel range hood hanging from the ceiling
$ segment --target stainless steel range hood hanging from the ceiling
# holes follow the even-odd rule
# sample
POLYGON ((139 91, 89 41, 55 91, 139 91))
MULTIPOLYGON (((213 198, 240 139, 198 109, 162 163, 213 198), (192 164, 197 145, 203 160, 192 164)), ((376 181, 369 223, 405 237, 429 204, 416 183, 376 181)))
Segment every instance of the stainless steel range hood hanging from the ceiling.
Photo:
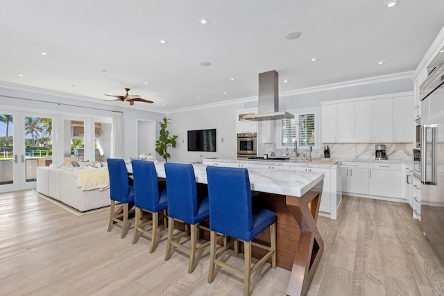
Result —
POLYGON ((293 119, 293 114, 286 111, 279 111, 278 85, 278 72, 272 70, 259 73, 257 114, 244 116, 243 119, 249 121, 293 119))

